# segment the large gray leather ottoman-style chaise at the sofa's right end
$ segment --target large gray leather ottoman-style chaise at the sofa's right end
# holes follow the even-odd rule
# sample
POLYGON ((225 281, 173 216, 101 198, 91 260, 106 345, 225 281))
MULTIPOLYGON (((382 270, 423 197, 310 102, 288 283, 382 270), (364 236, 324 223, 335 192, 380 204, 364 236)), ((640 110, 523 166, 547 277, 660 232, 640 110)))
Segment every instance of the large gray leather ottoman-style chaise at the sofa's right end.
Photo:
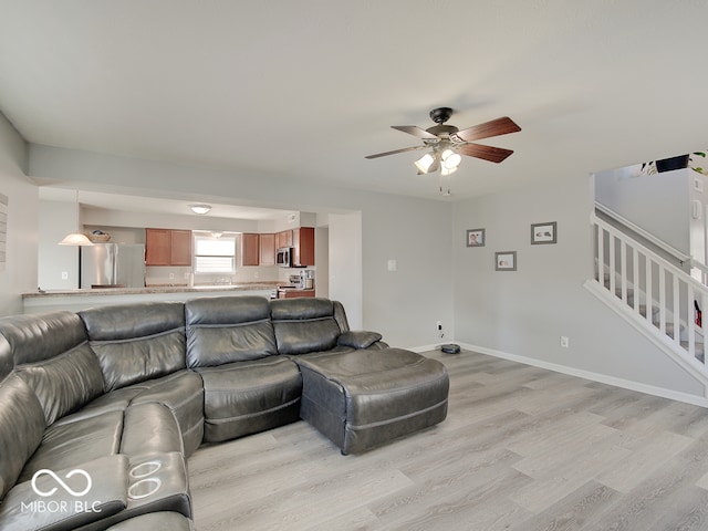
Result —
POLYGON ((293 357, 302 373, 300 416, 358 454, 442 421, 445 366, 402 348, 293 357))

